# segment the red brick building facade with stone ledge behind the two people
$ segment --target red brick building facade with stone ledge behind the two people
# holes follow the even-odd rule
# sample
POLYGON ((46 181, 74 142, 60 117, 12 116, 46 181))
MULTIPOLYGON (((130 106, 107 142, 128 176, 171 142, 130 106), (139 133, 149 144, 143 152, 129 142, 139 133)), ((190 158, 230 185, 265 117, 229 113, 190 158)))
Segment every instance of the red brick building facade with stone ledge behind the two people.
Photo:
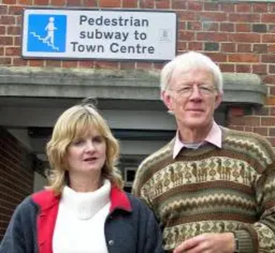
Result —
POLYGON ((140 161, 175 133, 159 100, 159 69, 166 61, 23 58, 28 8, 175 12, 176 54, 203 52, 223 71, 217 122, 260 133, 275 146, 274 1, 2 0, 0 240, 18 203, 45 184, 45 143, 67 107, 86 97, 96 101, 122 145, 126 190, 140 161))

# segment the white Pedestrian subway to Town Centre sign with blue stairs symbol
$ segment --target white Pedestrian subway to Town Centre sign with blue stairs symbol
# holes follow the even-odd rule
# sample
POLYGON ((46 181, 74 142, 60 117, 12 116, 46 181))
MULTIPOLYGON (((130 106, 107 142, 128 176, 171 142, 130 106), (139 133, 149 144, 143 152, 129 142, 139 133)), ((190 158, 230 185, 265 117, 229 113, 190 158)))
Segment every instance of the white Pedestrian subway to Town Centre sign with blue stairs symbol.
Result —
POLYGON ((176 32, 175 12, 26 9, 22 56, 167 61, 176 32))

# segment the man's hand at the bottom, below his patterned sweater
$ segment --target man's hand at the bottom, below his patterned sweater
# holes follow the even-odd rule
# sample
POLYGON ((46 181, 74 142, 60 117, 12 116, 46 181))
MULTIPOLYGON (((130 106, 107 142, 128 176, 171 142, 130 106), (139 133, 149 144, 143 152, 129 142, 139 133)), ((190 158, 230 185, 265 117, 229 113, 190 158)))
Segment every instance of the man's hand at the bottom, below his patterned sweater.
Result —
POLYGON ((175 248, 173 253, 233 253, 234 248, 233 233, 207 233, 184 241, 175 248))

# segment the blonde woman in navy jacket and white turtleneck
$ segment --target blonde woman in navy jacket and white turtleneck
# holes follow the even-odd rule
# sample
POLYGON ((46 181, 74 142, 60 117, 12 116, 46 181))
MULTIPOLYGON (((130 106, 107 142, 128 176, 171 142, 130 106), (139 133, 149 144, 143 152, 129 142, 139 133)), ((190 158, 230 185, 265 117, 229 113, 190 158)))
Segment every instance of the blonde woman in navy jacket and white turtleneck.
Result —
POLYGON ((67 109, 47 144, 50 186, 17 207, 0 253, 162 252, 153 213, 122 191, 118 154, 93 105, 67 109))

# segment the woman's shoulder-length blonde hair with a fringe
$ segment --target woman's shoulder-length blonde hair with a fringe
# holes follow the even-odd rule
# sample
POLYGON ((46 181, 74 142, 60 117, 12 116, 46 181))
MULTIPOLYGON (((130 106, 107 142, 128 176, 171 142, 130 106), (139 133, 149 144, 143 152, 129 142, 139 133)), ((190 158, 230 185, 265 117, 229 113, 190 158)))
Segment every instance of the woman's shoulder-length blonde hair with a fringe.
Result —
POLYGON ((68 183, 65 155, 67 148, 76 138, 81 137, 93 127, 106 141, 106 161, 102 168, 102 178, 109 179, 112 185, 123 187, 120 170, 116 167, 120 153, 118 140, 115 139, 107 122, 93 104, 78 104, 64 111, 58 118, 51 140, 47 143, 46 153, 51 170, 48 175, 49 186, 59 195, 68 183))

